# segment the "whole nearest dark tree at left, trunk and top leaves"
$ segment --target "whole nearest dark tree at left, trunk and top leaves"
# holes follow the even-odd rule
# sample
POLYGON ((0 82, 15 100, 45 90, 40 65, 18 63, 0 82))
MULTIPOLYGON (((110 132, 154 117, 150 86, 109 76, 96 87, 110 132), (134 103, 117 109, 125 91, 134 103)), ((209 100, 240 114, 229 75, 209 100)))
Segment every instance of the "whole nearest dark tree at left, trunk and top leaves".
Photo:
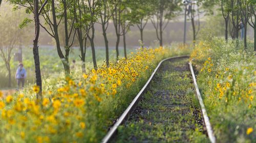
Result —
MULTIPOLYGON (((39 15, 47 5, 48 1, 41 2, 39 7, 38 0, 34 1, 24 1, 24 0, 9 0, 11 4, 18 5, 25 7, 28 13, 33 13, 34 16, 34 23, 35 23, 35 35, 33 40, 33 55, 34 55, 34 64, 35 64, 35 77, 36 77, 36 85, 39 87, 39 91, 36 94, 36 98, 41 100, 42 99, 42 81, 41 81, 41 71, 40 71, 40 59, 39 59, 39 52, 38 52, 38 39, 40 33, 40 21, 39 15)), ((31 20, 25 19, 23 23, 29 23, 31 20)))

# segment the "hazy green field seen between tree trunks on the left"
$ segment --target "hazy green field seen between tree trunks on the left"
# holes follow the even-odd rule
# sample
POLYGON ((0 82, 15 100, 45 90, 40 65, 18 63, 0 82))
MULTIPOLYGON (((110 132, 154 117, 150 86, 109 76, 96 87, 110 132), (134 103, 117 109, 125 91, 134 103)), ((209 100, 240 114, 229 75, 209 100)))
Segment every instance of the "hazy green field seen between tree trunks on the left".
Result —
MULTIPOLYGON (((17 49, 13 50, 13 54, 17 51, 17 49)), ((127 49, 127 52, 135 51, 133 48, 127 49)), ((116 58, 116 51, 114 47, 110 47, 109 51, 110 60, 115 60, 116 58)), ((15 73, 17 69, 18 62, 14 61, 14 57, 12 54, 11 59, 11 72, 12 72, 12 87, 16 88, 16 80, 15 80, 15 73)), ((70 51, 70 63, 72 66, 72 61, 75 60, 75 69, 79 70, 80 68, 80 58, 79 58, 80 50, 79 48, 72 48, 70 51)), ((54 73, 62 73, 62 74, 54 74, 54 76, 62 76, 63 75, 63 66, 57 54, 55 48, 52 47, 39 47, 39 55, 40 55, 40 66, 41 66, 41 74, 42 80, 54 73)), ((123 57, 123 48, 119 48, 119 55, 123 57)), ((96 60, 97 65, 102 65, 105 60, 105 49, 104 47, 96 47, 96 60)), ((26 79, 26 84, 33 84, 35 81, 34 78, 34 59, 33 59, 33 52, 31 47, 24 47, 23 48, 23 64, 25 69, 27 70, 28 77, 26 79)), ((91 69, 93 67, 92 63, 92 50, 91 48, 87 48, 86 51, 86 68, 91 69)), ((74 69, 71 69, 71 72, 74 72, 74 69)), ((5 67, 5 63, 2 59, 0 59, 0 90, 8 89, 8 72, 5 67)))

